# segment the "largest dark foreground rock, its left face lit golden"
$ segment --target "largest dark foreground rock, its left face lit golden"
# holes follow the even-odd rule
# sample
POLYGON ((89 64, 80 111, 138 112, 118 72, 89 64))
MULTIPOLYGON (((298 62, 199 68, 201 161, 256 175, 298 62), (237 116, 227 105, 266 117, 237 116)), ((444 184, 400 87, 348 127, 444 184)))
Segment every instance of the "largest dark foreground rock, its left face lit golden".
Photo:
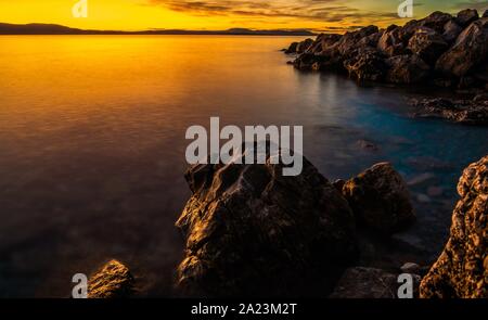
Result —
MULTIPOLYGON (((241 155, 242 156, 242 155, 241 155)), ((275 156, 275 155, 274 155, 275 156)), ((346 200, 304 158, 282 165, 196 165, 176 226, 187 240, 178 286, 197 296, 320 296, 357 258, 346 200)))

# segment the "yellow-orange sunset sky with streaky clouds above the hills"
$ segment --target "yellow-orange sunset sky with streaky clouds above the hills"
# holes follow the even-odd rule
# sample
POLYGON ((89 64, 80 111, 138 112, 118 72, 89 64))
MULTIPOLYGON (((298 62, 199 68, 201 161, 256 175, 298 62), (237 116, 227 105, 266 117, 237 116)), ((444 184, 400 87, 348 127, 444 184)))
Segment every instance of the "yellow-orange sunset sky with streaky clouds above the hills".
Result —
MULTIPOLYGON (((345 31, 370 24, 402 25, 402 0, 87 0, 88 17, 75 18, 78 0, 0 0, 0 22, 53 23, 84 29, 311 29, 345 31)), ((414 18, 440 10, 488 9, 488 0, 413 0, 414 18)))

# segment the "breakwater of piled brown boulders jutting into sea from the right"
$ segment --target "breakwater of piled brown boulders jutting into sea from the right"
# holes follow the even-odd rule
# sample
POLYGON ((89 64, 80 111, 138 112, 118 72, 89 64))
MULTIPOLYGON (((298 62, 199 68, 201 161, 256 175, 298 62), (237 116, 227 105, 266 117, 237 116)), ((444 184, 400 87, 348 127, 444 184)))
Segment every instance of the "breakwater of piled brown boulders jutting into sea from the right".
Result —
MULTIPOLYGON (((301 71, 344 73, 359 81, 468 90, 474 97, 488 90, 488 11, 481 16, 470 9, 457 15, 434 12, 403 26, 322 34, 313 41, 294 43, 286 53, 296 55, 292 64, 301 71)), ((457 100, 451 102, 458 105, 457 100)), ((419 113, 425 111, 422 104, 414 106, 419 113)), ((485 124, 485 104, 451 107, 446 117, 464 118, 466 110, 481 116, 485 124)))

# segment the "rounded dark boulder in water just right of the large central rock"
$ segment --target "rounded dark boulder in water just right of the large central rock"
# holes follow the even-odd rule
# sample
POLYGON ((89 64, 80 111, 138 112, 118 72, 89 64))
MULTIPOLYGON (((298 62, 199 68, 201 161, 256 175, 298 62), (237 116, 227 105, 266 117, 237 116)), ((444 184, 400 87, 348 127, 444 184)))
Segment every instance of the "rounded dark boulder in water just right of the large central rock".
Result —
POLYGON ((388 163, 376 164, 348 180, 343 195, 358 222, 384 234, 404 229, 415 220, 407 184, 388 163))

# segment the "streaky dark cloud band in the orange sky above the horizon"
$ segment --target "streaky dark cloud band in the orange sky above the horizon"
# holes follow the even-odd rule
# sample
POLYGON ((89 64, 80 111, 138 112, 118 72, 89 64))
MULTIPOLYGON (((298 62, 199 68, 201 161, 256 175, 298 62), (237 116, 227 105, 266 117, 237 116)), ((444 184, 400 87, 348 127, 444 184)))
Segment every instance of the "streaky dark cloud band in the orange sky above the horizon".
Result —
POLYGON ((373 12, 348 7, 346 0, 149 0, 177 12, 200 16, 237 15, 245 17, 299 18, 337 23, 346 20, 394 20, 396 12, 373 12))

